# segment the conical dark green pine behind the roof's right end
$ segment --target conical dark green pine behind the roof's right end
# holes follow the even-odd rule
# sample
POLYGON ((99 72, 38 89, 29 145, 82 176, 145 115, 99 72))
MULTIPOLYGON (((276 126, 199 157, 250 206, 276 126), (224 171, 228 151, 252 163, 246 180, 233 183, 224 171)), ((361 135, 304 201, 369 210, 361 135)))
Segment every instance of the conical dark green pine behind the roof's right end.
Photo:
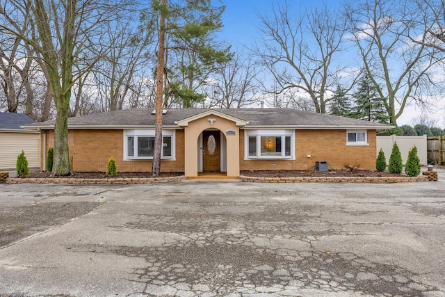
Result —
POLYGON ((385 98, 377 93, 371 77, 365 72, 359 81, 359 88, 353 95, 354 106, 351 109, 350 118, 367 120, 369 122, 381 122, 387 124, 389 116, 385 109, 385 98))

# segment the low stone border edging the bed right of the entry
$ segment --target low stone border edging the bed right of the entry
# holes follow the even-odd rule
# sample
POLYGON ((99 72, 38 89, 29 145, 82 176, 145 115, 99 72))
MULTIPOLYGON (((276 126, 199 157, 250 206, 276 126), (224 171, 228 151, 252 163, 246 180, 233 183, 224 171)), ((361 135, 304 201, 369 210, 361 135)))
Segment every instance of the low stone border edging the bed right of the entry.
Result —
POLYGON ((428 182, 428 177, 247 177, 240 176, 241 182, 357 182, 357 183, 396 183, 428 182))

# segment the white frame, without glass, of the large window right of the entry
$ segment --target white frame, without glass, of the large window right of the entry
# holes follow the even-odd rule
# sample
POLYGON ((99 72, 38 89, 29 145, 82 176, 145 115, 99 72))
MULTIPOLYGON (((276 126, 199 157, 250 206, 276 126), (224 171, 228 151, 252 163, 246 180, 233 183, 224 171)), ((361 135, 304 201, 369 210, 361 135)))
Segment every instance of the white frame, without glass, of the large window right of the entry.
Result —
POLYGON ((257 129, 244 130, 244 159, 288 159, 295 160, 295 130, 293 129, 257 129), (256 138, 257 154, 249 156, 249 138, 256 138), (281 155, 261 155, 261 137, 277 138, 281 137, 282 151, 281 155), (286 137, 291 138, 291 154, 286 156, 286 137))

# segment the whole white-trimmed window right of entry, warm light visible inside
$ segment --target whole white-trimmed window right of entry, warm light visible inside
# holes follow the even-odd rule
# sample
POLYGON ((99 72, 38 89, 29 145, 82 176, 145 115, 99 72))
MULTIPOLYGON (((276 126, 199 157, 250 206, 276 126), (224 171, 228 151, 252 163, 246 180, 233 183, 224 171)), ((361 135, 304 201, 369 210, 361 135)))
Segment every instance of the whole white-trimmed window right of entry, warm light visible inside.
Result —
POLYGON ((245 130, 245 159, 295 158, 295 130, 245 130))

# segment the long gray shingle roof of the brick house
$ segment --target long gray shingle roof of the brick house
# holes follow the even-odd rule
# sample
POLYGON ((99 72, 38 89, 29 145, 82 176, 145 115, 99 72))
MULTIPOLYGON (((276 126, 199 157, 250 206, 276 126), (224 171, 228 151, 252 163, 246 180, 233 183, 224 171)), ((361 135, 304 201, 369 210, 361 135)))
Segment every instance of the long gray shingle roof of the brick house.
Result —
MULTIPOLYGON (((163 115, 163 127, 179 128, 175 122, 213 110, 248 122, 249 127, 295 127, 296 129, 345 128, 390 129, 391 126, 365 120, 343 118, 295 109, 169 109, 163 115)), ((136 128, 154 127, 153 109, 127 109, 69 118, 71 128, 136 128)), ((29 127, 51 129, 54 121, 39 122, 29 127)))

